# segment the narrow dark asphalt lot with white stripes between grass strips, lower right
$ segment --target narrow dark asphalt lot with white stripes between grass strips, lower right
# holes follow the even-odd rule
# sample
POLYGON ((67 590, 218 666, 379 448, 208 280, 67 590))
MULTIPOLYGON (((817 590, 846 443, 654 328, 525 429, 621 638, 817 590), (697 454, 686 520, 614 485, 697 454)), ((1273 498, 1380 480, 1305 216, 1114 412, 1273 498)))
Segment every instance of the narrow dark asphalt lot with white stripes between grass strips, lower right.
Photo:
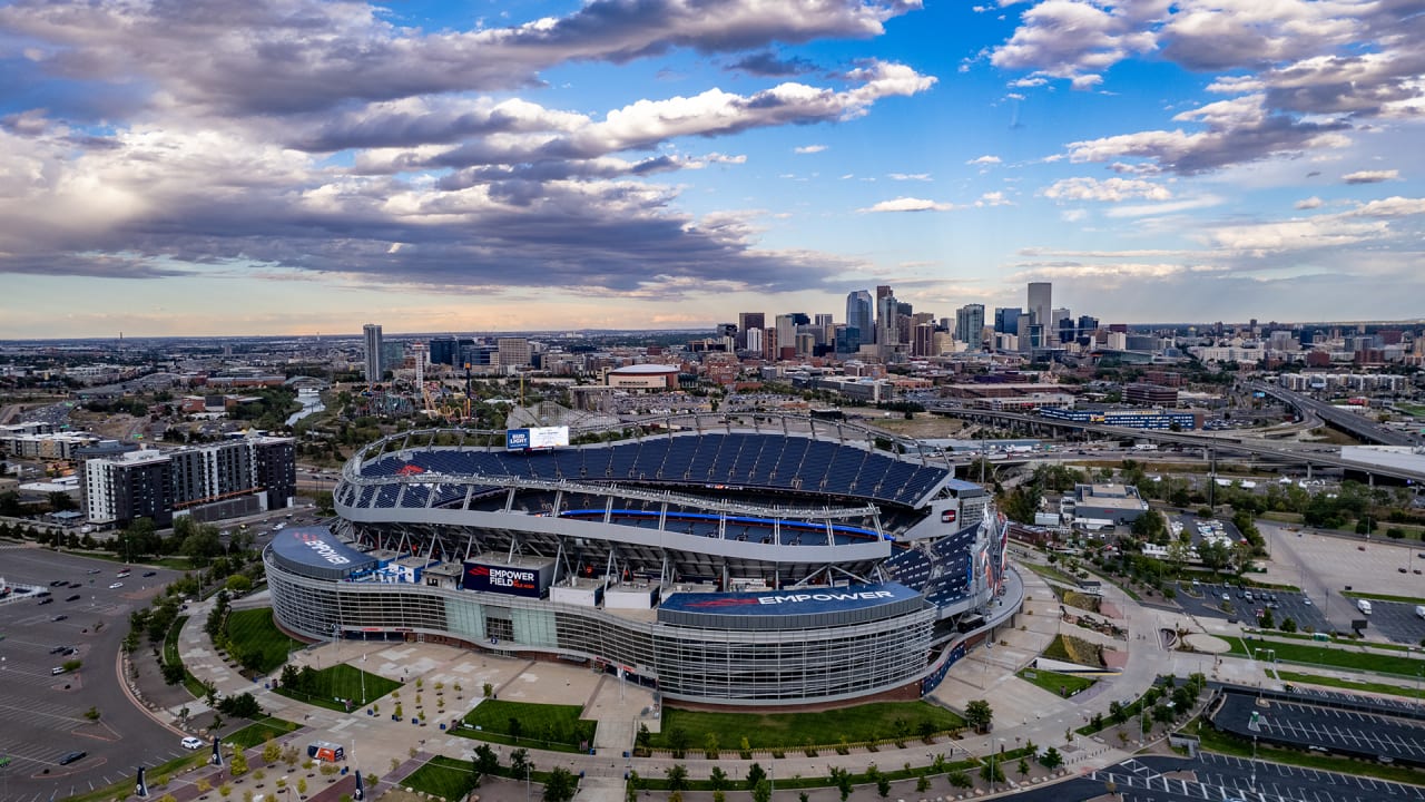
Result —
POLYGON ((1251 694, 1228 692, 1213 724, 1243 738, 1425 765, 1425 726, 1421 722, 1328 705, 1271 701, 1264 708, 1251 694), (1255 729, 1251 725, 1254 715, 1255 729))

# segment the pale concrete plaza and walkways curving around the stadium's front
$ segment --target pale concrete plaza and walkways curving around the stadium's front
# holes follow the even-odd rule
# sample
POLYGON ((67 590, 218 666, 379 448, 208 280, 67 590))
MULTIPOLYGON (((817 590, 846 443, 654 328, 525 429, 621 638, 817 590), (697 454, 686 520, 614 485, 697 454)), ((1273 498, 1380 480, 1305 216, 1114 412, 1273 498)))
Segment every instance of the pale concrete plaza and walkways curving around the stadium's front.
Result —
MULTIPOLYGON (((931 763, 936 755, 945 755, 946 759, 985 756, 1000 749, 1013 749, 1027 741, 1040 746, 1056 746, 1064 755, 1063 771, 1084 772, 1120 762, 1130 753, 1110 746, 1102 738, 1083 738, 1073 734, 1066 738, 1066 731, 1082 726, 1094 714, 1107 716, 1110 702, 1136 699, 1161 674, 1186 676, 1201 671, 1208 676, 1216 675, 1213 655, 1166 651, 1157 635, 1161 628, 1183 626, 1190 631, 1201 631, 1200 626, 1186 616, 1144 608, 1119 588, 1104 584, 1104 601, 1109 602, 1106 609, 1119 612, 1121 618, 1114 622, 1129 629, 1127 641, 1114 642, 1127 654, 1121 674, 1104 676, 1093 688, 1070 699, 1062 699, 1019 679, 1015 676, 1015 671, 1029 665, 1049 645, 1060 626, 1059 602, 1047 584, 1030 571, 1020 569, 1019 574, 1025 582, 1026 602, 1025 612, 1019 615, 1016 626, 1002 629, 999 641, 990 648, 975 649, 952 668, 945 682, 931 698, 936 704, 958 711, 963 711, 970 699, 989 699, 995 708, 995 731, 989 735, 962 739, 940 738, 933 743, 912 739, 906 742, 903 749, 882 748, 875 753, 854 751, 848 755, 836 755, 835 751, 828 749, 829 753, 809 758, 798 751, 787 752, 784 758, 778 759, 760 753, 755 761, 744 761, 735 753, 728 758, 727 752, 718 761, 703 759, 691 752, 683 759, 624 758, 624 751, 633 745, 633 734, 638 724, 647 724, 650 729, 657 729, 657 719, 641 718, 641 712, 653 706, 653 696, 644 688, 591 674, 581 666, 530 662, 419 642, 322 644, 295 652, 292 659, 298 665, 311 664, 314 666, 346 662, 398 681, 413 682, 416 676, 422 676, 428 688, 435 682, 445 682, 447 688, 460 682, 465 698, 442 712, 445 719, 463 715, 477 705, 480 686, 484 682, 499 688, 502 699, 581 705, 586 716, 600 721, 596 736, 597 753, 530 749, 530 759, 542 771, 561 765, 576 775, 583 773, 586 779, 580 798, 607 799, 607 802, 623 801, 623 778, 630 769, 637 771, 641 776, 661 778, 667 768, 677 763, 687 769, 690 778, 704 779, 717 766, 728 776, 737 778, 747 776, 751 763, 758 762, 764 769, 770 769, 781 778, 826 776, 832 766, 855 772, 865 771, 872 762, 884 768, 899 768, 905 763, 923 766, 931 763)), ((409 721, 393 722, 389 715, 366 715, 365 709, 341 714, 315 708, 268 691, 262 682, 244 679, 232 666, 218 658, 202 631, 202 622, 207 621, 211 604, 211 601, 201 602, 188 611, 190 619, 178 641, 184 664, 197 676, 215 682, 219 694, 252 692, 271 715, 302 724, 304 729, 289 736, 295 742, 325 739, 343 743, 349 751, 348 765, 361 768, 365 775, 376 773, 383 782, 393 771, 396 773, 390 775, 392 779, 402 771, 413 771, 419 765, 413 762, 418 755, 439 753, 470 759, 475 746, 480 743, 442 732, 435 724, 416 726, 409 721), (408 765, 409 769, 406 769, 408 765)), ((1104 614, 1099 614, 1097 618, 1104 618, 1104 614)), ((1069 625, 1064 628, 1067 631, 1069 625)), ((1253 666, 1253 669, 1260 681, 1260 668, 1253 666)), ((409 691, 403 689, 403 701, 408 694, 409 691)), ((201 699, 187 702, 190 711, 197 711, 201 705, 201 699)), ((388 712, 386 708, 388 705, 382 704, 383 714, 388 712)), ((172 715, 177 715, 177 711, 172 711, 172 715)), ((510 748, 493 746, 499 752, 502 763, 507 763, 510 748)), ((1015 779, 1010 772, 1006 775, 1009 779, 1015 779)), ((943 788, 943 778, 935 782, 938 788, 943 788)), ((835 789, 831 792, 835 793, 835 789)), ((952 795, 955 792, 950 791, 952 795)), ((795 799, 794 793, 794 791, 779 791, 778 798, 795 799)), ((899 798, 926 796, 926 793, 915 792, 913 783, 896 785, 895 793, 899 798)), ((523 795, 523 788, 520 788, 520 795, 523 795)), ((832 796, 821 793, 808 792, 808 795, 832 799, 832 796)), ((932 791, 929 795, 933 798, 945 795, 945 792, 932 791)))

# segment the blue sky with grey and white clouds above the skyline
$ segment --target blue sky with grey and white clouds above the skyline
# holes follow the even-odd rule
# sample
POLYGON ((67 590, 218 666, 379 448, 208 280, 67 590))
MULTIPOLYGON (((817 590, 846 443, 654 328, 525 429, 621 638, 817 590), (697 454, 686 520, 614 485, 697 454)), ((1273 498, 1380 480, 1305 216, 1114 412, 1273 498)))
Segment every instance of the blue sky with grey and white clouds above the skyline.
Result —
POLYGON ((1425 315, 1425 0, 0 1, 0 337, 1425 315))

